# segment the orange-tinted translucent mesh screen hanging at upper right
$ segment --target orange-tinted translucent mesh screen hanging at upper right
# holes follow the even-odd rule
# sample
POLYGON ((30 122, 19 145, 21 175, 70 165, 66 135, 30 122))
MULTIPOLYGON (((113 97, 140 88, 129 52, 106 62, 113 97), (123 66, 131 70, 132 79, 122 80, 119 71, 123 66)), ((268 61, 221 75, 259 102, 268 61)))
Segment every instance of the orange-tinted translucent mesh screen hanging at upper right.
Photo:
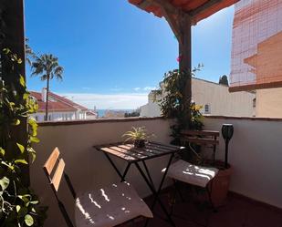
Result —
POLYGON ((230 91, 282 87, 282 0, 235 4, 230 91))

